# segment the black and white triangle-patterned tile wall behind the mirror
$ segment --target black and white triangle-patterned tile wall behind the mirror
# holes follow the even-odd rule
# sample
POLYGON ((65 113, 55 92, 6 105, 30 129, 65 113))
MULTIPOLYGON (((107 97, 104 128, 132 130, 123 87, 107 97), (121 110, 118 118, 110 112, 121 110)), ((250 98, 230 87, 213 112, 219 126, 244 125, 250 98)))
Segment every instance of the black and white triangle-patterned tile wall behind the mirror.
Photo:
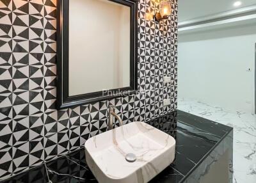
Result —
POLYGON ((106 131, 109 104, 125 123, 177 108, 177 0, 156 23, 159 0, 141 0, 137 95, 57 111, 56 0, 0 0, 0 179, 76 150, 106 131), (158 1, 158 2, 157 2, 158 1), (172 83, 164 84, 163 76, 172 83), (170 98, 172 105, 161 101, 170 98))

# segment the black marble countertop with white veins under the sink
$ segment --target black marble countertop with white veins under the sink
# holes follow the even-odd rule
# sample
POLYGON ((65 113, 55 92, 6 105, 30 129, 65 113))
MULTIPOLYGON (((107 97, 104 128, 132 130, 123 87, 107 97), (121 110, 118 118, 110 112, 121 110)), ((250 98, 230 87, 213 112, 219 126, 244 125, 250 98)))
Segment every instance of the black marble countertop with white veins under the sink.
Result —
MULTIPOLYGON (((232 128, 177 111, 152 120, 150 125, 176 139, 175 161, 150 182, 186 182, 204 159, 232 133, 232 128)), ((215 152, 214 152, 215 153, 215 152)), ((84 148, 59 157, 5 182, 97 182, 86 165, 84 148)))

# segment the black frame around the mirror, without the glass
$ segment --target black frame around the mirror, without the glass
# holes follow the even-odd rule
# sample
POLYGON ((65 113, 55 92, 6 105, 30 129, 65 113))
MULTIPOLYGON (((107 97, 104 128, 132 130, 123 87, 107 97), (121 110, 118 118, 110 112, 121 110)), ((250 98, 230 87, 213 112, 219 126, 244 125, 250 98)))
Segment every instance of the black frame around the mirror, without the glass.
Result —
POLYGON ((131 28, 130 28, 130 86, 109 90, 113 95, 102 95, 102 91, 84 93, 83 95, 68 95, 68 19, 69 1, 57 1, 57 109, 109 100, 122 97, 124 93, 135 93, 137 90, 138 74, 138 0, 108 0, 123 4, 131 8, 131 28))

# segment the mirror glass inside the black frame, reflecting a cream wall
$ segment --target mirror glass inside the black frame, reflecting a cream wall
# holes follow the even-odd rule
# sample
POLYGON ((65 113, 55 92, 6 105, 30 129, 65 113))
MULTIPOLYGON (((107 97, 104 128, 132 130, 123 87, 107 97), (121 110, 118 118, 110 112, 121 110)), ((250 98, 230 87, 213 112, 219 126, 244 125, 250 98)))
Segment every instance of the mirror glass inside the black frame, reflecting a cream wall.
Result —
POLYGON ((130 86, 130 17, 112 1, 69 1, 69 96, 130 86))

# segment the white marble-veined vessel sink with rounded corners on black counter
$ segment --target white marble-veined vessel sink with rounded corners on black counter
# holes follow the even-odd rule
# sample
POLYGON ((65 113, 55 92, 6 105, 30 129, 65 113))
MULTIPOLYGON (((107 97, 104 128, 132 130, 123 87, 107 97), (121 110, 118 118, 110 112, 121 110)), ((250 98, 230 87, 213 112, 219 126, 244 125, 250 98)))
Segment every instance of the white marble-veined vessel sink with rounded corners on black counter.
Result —
POLYGON ((86 163, 100 183, 148 182, 175 157, 175 139, 144 122, 94 136, 84 147, 86 163))

